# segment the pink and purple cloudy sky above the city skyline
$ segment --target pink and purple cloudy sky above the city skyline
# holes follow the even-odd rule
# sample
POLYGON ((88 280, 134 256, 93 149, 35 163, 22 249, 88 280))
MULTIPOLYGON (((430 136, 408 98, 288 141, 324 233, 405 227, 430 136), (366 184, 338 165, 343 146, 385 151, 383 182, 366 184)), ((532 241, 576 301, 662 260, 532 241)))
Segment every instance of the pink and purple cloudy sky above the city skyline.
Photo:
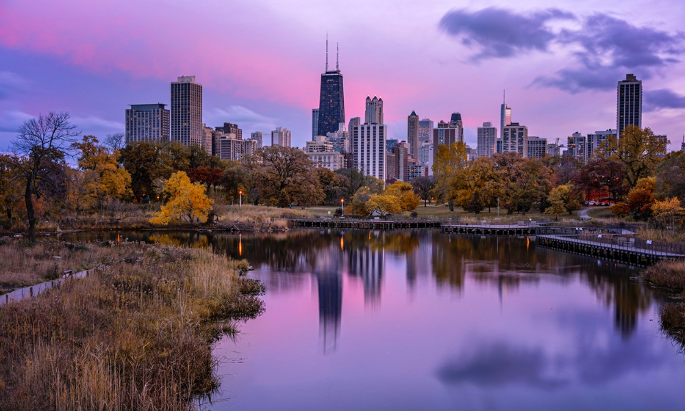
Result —
POLYGON ((680 148, 685 6, 679 0, 0 0, 0 149, 23 121, 69 111, 84 134, 123 132, 129 104, 169 103, 195 75, 203 119, 243 134, 311 136, 329 34, 340 44, 347 119, 385 102, 390 136, 412 110, 461 112, 466 142, 513 121, 554 140, 616 127, 616 82, 643 80, 643 127, 680 148))

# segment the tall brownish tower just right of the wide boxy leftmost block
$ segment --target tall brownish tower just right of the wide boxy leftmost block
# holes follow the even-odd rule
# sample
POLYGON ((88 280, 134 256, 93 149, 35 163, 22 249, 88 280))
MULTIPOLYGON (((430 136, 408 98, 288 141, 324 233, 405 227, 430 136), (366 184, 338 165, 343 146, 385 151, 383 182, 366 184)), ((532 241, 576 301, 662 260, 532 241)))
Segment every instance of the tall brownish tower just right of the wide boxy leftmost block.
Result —
POLYGON ((202 85, 194 75, 171 83, 171 141, 184 146, 203 145, 202 85))

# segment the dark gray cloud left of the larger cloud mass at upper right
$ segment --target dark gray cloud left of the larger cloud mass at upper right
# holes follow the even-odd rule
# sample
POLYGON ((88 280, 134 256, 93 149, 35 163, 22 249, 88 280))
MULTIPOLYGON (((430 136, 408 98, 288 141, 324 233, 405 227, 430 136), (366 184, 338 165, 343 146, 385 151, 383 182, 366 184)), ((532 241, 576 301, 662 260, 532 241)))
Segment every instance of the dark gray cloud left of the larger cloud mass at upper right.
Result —
POLYGON ((462 44, 478 47, 475 60, 507 58, 522 52, 547 51, 554 34, 546 23, 573 19, 569 12, 547 9, 534 14, 516 14, 501 8, 485 8, 477 12, 451 10, 440 19, 439 27, 460 38, 462 44))

